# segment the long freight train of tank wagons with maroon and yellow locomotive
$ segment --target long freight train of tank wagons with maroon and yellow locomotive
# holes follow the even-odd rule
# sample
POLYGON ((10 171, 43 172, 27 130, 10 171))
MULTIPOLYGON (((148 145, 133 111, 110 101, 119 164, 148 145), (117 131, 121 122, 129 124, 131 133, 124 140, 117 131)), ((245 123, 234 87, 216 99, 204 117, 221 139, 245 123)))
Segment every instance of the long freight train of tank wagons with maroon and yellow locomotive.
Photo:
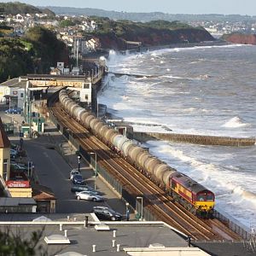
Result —
POLYGON ((61 107, 73 119, 77 119, 109 148, 112 148, 133 166, 136 166, 139 171, 150 177, 154 183, 165 189, 166 193, 172 195, 174 201, 178 201, 198 217, 212 218, 215 196, 210 190, 149 154, 147 150, 120 135, 103 120, 97 119, 89 110, 73 102, 67 95, 67 90, 60 91, 59 100, 61 107))

